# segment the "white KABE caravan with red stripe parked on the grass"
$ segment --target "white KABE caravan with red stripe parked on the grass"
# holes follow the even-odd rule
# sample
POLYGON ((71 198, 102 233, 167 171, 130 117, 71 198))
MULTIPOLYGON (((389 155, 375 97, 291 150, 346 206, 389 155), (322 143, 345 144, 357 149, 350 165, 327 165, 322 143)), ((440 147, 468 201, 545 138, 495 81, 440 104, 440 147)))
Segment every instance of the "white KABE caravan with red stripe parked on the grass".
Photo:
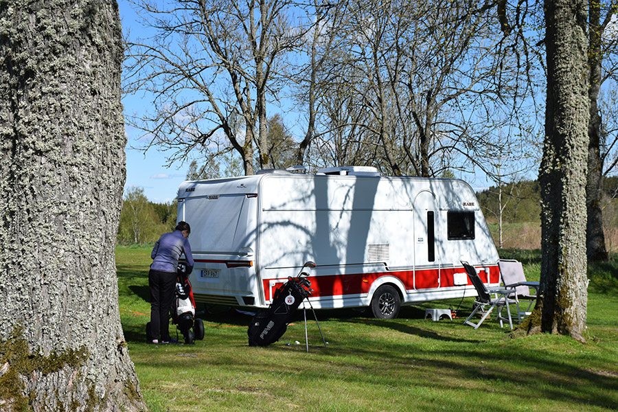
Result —
POLYGON ((191 225, 196 301, 264 308, 312 260, 314 308, 401 305, 474 296, 460 261, 499 284, 498 252, 474 191, 457 179, 267 170, 185 181, 178 219, 191 225))

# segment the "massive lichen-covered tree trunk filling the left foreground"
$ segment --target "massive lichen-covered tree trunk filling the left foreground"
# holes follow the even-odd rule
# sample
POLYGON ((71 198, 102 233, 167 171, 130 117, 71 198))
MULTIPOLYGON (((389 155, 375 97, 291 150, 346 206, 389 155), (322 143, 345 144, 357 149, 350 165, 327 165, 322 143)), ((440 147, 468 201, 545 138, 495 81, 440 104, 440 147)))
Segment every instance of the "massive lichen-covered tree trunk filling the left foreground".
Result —
POLYGON ((2 411, 146 409, 119 319, 115 0, 0 0, 2 411))

